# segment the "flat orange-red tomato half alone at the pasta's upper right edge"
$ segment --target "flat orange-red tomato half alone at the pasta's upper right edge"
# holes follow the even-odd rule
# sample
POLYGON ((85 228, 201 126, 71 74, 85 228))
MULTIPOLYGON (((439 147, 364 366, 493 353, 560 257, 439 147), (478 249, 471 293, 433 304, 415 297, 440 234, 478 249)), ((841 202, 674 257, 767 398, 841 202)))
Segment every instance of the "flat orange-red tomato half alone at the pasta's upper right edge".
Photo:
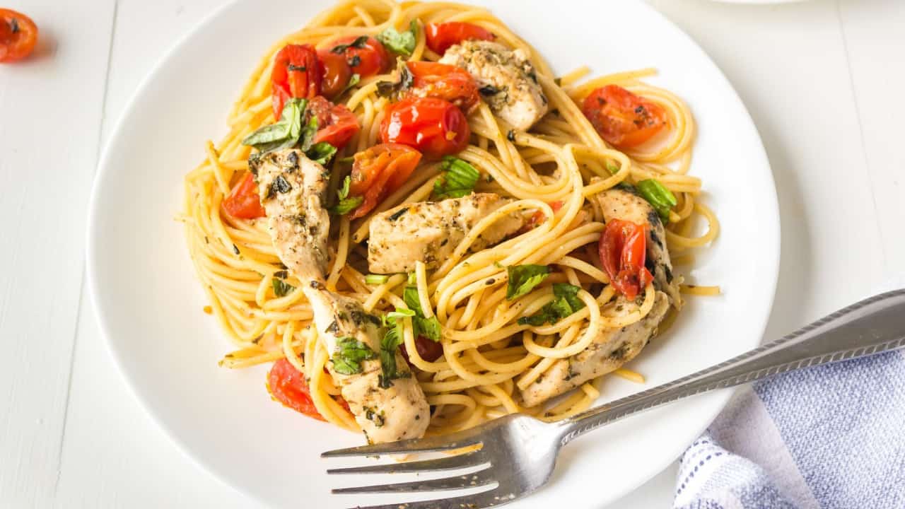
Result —
POLYGON ((581 110, 601 138, 623 149, 641 145, 666 125, 666 111, 660 105, 618 85, 592 91, 581 110))

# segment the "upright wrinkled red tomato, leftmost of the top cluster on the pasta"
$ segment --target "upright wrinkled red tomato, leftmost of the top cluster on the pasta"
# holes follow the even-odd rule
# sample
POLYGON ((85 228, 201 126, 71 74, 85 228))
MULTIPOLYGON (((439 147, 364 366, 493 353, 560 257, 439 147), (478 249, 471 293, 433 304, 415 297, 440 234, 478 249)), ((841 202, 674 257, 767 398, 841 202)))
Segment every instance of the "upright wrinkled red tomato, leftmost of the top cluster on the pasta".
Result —
POLYGON ((271 90, 273 117, 280 118, 283 104, 297 98, 313 99, 320 93, 318 53, 310 44, 287 44, 273 59, 271 90))

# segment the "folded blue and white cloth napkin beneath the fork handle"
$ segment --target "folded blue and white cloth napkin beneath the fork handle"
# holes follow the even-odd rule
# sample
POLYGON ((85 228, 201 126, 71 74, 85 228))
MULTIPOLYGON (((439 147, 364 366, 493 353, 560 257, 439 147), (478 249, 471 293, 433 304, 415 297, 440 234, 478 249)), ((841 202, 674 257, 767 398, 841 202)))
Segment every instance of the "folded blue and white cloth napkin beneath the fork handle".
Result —
POLYGON ((682 455, 674 507, 905 508, 905 353, 740 389, 682 455))

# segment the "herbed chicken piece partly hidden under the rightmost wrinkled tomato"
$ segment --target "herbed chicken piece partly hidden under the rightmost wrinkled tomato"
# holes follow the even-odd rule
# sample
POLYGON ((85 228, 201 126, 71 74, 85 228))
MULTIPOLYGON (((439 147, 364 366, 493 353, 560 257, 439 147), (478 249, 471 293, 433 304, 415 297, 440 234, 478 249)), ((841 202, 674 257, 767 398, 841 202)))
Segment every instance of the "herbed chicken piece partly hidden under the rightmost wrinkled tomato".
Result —
POLYGON ((638 196, 632 187, 613 187, 597 195, 604 220, 622 219, 637 225, 649 225, 647 231, 647 259, 645 264, 653 274, 653 285, 665 292, 676 309, 681 308, 679 284, 681 277, 672 275, 670 252, 666 249, 666 230, 653 206, 638 196))

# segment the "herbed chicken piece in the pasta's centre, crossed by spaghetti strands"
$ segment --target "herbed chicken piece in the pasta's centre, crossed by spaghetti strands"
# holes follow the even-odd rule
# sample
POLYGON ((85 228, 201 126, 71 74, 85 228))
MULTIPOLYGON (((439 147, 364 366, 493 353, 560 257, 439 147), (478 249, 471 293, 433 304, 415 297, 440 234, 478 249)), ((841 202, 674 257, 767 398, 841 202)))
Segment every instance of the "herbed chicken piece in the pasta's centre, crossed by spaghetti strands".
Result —
MULTIPOLYGON (((510 203, 509 198, 477 193, 438 202, 396 206, 371 219, 367 264, 372 273, 414 271, 414 263, 427 268, 443 264, 465 235, 481 219, 510 203)), ((494 245, 519 231, 524 218, 518 213, 501 217, 475 239, 470 252, 494 245)))

